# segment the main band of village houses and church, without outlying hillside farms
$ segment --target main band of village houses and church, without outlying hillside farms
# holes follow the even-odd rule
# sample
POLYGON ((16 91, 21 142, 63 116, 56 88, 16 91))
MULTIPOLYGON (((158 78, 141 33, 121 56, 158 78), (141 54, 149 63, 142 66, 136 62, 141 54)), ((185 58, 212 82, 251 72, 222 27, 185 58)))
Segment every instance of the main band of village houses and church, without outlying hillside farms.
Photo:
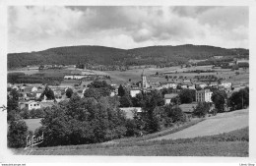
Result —
MULTIPOLYGON (((88 84, 92 83, 93 81, 86 81, 83 78, 84 76, 81 76, 81 73, 74 73, 72 76, 65 76, 64 82, 53 86, 49 85, 49 87, 53 90, 55 100, 46 100, 45 96, 44 98, 39 101, 38 99, 41 97, 41 94, 43 93, 43 90, 45 89, 45 86, 42 84, 10 84, 8 83, 8 87, 15 88, 19 91, 19 105, 20 108, 28 108, 29 110, 32 109, 39 109, 44 108, 48 106, 54 105, 56 102, 59 102, 61 100, 66 100, 66 90, 68 88, 72 88, 73 92, 77 92, 81 97, 84 96, 85 90, 88 88, 88 84), (76 78, 74 77, 82 77, 82 78, 76 78), (83 82, 83 80, 85 82, 83 82), (77 85, 79 84, 79 85, 77 85)), ((110 93, 110 96, 114 96, 118 94, 118 87, 117 84, 111 84, 114 87, 114 90, 110 93)), ((240 88, 244 88, 245 85, 235 85, 228 82, 223 83, 199 83, 195 82, 192 83, 190 80, 183 80, 182 82, 162 82, 162 83, 150 83, 147 80, 147 76, 144 74, 144 72, 141 75, 141 81, 138 83, 124 83, 123 84, 127 89, 129 89, 130 95, 132 97, 135 97, 137 94, 141 93, 142 91, 151 91, 151 90, 160 90, 163 88, 173 88, 175 92, 168 93, 164 95, 164 103, 169 104, 171 102, 171 99, 176 97, 178 95, 178 92, 182 88, 188 88, 188 89, 195 89, 196 90, 196 102, 212 102, 212 94, 213 92, 205 87, 216 87, 219 89, 224 89, 227 94, 228 92, 239 90, 240 88), (198 90, 200 89, 200 90, 198 90)), ((10 92, 10 91, 9 91, 10 92)), ((187 106, 184 106, 187 108, 187 106)))

